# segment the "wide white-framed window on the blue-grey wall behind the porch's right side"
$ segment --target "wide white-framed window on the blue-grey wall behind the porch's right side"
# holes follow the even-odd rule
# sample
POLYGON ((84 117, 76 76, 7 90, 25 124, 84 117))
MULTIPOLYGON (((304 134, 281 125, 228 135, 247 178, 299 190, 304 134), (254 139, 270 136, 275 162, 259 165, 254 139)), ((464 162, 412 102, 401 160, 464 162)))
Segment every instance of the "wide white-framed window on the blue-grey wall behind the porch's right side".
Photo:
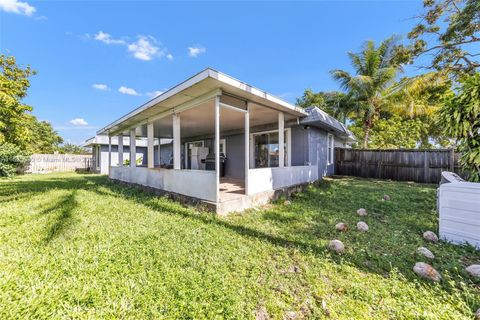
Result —
MULTIPOLYGON (((285 129, 284 134, 284 165, 290 165, 290 129, 285 129)), ((279 146, 278 130, 253 133, 251 135, 253 145, 253 154, 250 157, 253 160, 254 168, 271 168, 279 166, 279 146)))

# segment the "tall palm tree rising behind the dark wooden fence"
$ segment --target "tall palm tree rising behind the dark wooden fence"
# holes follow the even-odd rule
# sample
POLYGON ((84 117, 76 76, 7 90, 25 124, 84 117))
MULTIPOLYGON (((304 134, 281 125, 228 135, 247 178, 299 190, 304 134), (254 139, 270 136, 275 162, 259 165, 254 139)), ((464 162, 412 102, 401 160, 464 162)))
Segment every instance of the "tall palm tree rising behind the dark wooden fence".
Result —
POLYGON ((394 37, 375 47, 373 41, 367 41, 360 53, 349 52, 355 74, 344 70, 332 70, 333 79, 356 102, 355 113, 362 119, 363 147, 368 147, 370 129, 380 112, 386 109, 387 89, 394 83, 401 66, 395 60, 394 37))

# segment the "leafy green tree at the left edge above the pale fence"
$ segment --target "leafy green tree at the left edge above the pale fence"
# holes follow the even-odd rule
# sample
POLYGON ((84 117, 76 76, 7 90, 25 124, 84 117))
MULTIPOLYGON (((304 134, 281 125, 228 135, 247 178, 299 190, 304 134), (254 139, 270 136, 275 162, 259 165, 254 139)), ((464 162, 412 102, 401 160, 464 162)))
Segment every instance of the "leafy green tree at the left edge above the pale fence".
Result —
POLYGON ((13 143, 27 153, 52 153, 63 140, 52 126, 38 121, 32 107, 22 103, 34 75, 20 68, 14 57, 0 55, 0 144, 13 143))

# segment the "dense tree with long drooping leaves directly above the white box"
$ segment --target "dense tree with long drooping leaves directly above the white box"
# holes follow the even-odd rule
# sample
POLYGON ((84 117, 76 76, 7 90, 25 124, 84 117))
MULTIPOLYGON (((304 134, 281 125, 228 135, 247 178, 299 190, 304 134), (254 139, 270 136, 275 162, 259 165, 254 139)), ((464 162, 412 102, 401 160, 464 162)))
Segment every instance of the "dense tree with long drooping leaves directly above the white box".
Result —
POLYGON ((445 133, 457 139, 460 165, 470 180, 480 181, 480 73, 460 80, 456 94, 440 110, 445 133))

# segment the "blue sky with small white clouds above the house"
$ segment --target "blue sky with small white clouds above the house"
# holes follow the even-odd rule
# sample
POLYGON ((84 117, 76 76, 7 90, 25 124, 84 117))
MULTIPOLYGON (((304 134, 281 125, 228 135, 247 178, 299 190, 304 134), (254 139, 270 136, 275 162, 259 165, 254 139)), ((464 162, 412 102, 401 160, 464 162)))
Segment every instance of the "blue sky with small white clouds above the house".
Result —
POLYGON ((26 103, 82 143, 156 92, 213 67, 295 102, 365 40, 405 35, 421 1, 0 0, 0 52, 38 74, 26 103))

